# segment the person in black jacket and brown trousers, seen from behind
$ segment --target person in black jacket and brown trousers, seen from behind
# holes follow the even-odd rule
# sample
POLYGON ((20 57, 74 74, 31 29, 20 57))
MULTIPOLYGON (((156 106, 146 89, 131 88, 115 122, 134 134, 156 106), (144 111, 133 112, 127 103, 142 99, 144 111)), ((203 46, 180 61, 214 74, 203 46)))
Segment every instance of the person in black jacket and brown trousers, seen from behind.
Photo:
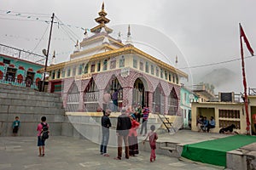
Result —
POLYGON ((118 136, 118 156, 114 159, 122 159, 122 144, 125 143, 125 158, 129 159, 129 144, 128 144, 128 134, 131 128, 131 119, 126 114, 125 108, 121 110, 121 115, 118 116, 116 134, 118 136))

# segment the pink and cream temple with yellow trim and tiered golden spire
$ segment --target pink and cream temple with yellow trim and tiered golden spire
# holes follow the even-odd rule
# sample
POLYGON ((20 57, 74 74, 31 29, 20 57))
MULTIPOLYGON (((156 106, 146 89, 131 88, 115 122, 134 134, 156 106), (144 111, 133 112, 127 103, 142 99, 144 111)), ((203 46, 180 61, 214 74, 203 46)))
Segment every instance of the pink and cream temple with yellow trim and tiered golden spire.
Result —
POLYGON ((118 106, 146 105, 151 113, 179 115, 180 79, 188 78, 160 59, 132 44, 128 27, 125 42, 113 30, 102 3, 97 26, 85 29, 70 60, 47 68, 50 93, 61 93, 67 112, 96 112, 105 92, 118 90, 118 106))

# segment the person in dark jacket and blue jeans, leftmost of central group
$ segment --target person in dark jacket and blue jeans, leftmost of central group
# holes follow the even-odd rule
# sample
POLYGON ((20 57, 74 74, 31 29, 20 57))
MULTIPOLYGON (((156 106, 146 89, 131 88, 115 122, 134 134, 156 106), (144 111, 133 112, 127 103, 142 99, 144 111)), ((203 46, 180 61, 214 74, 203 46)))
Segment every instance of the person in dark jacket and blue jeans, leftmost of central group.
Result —
POLYGON ((109 156, 107 153, 107 146, 109 140, 109 127, 111 127, 111 122, 109 119, 110 110, 103 111, 104 115, 102 116, 102 144, 101 144, 101 154, 103 156, 109 156))

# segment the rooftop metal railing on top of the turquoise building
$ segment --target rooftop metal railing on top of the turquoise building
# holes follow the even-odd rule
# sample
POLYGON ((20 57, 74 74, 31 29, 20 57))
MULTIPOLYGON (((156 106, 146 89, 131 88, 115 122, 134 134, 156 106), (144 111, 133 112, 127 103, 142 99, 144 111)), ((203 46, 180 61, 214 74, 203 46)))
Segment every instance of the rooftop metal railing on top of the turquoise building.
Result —
POLYGON ((32 52, 28 52, 19 48, 13 48, 7 45, 3 45, 1 43, 0 43, 0 54, 5 54, 17 59, 24 59, 26 61, 37 63, 39 65, 44 65, 44 62, 45 62, 44 55, 34 54, 32 52))

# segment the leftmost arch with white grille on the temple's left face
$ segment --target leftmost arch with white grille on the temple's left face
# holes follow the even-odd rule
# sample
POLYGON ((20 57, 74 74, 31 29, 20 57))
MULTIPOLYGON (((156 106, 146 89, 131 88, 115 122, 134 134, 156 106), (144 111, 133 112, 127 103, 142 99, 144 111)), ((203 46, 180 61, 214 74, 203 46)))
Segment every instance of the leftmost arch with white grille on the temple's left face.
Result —
POLYGON ((67 92, 67 112, 75 112, 79 109, 79 88, 73 82, 73 85, 67 92))

